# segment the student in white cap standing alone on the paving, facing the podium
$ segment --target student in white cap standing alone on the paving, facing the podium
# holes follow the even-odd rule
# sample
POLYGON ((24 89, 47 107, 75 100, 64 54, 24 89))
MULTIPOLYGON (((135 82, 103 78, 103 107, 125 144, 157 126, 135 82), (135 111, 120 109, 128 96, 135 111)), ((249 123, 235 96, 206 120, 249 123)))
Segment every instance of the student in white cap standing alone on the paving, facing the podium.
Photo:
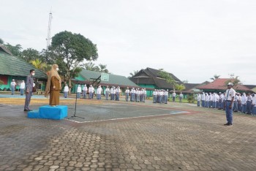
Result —
POLYGON ((233 102, 235 99, 236 91, 233 89, 233 83, 227 83, 227 90, 226 90, 226 118, 227 123, 225 126, 232 126, 233 125, 233 102))

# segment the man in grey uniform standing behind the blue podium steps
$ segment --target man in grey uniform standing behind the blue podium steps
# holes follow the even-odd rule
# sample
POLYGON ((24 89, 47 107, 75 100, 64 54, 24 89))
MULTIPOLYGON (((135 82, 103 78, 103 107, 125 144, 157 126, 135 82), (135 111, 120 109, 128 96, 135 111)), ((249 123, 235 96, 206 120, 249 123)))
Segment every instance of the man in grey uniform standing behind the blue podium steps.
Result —
POLYGON ((34 69, 30 69, 30 74, 26 76, 26 99, 24 105, 24 111, 32 111, 29 109, 29 104, 32 96, 33 91, 33 76, 34 76, 34 69))

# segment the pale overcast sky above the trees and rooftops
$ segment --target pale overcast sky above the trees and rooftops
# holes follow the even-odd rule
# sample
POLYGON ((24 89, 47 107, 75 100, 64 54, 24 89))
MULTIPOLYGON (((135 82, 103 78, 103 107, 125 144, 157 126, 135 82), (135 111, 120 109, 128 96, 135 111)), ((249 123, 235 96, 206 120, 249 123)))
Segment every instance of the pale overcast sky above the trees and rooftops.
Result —
POLYGON ((256 85, 255 0, 1 1, 0 38, 41 51, 51 8, 51 35, 91 39, 95 63, 113 74, 151 67, 189 83, 234 74, 256 85))

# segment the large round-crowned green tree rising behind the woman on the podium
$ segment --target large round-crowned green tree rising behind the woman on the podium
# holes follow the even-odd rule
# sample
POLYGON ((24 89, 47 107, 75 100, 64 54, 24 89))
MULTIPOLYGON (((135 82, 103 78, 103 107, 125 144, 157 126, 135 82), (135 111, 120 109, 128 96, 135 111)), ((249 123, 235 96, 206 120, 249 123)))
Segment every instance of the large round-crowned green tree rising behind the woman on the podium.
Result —
POLYGON ((59 65, 60 74, 69 83, 69 88, 72 86, 72 77, 77 76, 81 70, 82 62, 98 58, 97 45, 83 35, 72 34, 70 31, 61 31, 54 35, 48 50, 53 55, 51 62, 59 65))

